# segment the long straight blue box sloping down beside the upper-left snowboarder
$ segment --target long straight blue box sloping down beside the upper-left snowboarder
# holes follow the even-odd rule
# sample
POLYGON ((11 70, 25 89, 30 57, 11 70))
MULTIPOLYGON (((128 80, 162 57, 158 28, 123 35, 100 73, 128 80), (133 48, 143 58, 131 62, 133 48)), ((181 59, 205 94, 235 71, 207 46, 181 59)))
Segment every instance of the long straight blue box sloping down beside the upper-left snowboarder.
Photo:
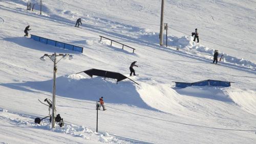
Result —
POLYGON ((80 46, 76 46, 76 45, 72 45, 72 44, 68 44, 68 43, 63 43, 63 42, 58 42, 55 40, 51 40, 51 39, 47 39, 47 38, 43 38, 43 37, 39 37, 39 36, 35 36, 35 35, 31 35, 30 37, 31 39, 44 43, 44 44, 49 44, 52 46, 56 46, 56 47, 60 47, 60 48, 64 48, 64 49, 68 49, 68 50, 73 50, 73 51, 78 51, 78 52, 83 52, 83 47, 80 46))

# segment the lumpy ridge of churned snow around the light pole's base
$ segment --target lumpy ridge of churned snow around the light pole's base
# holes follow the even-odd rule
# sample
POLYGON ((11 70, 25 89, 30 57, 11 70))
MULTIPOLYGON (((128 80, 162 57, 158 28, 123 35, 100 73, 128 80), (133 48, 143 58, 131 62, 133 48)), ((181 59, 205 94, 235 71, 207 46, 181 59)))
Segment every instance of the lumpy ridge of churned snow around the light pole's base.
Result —
POLYGON ((118 140, 118 138, 115 138, 114 136, 111 136, 106 132, 97 133, 85 126, 78 126, 74 124, 65 123, 63 127, 59 127, 58 125, 56 125, 56 128, 52 129, 49 120, 43 120, 40 124, 35 124, 33 116, 28 116, 26 114, 18 114, 12 111, 4 110, 2 108, 0 108, 0 110, 0 120, 4 120, 5 122, 11 123, 17 127, 49 130, 53 132, 73 135, 75 137, 81 137, 83 139, 88 140, 95 139, 101 142, 120 143, 120 140, 118 140))

